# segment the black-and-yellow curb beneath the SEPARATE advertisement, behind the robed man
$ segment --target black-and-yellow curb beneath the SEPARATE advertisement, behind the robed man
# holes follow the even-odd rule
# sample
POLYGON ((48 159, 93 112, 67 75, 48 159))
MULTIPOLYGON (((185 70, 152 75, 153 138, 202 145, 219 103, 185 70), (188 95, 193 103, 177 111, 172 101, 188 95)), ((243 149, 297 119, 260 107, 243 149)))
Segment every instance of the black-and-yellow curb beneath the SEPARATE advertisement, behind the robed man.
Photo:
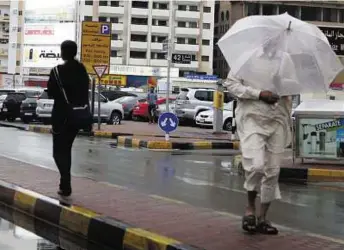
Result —
MULTIPOLYGON (((233 166, 239 170, 242 170, 241 155, 237 155, 233 158, 233 166)), ((321 168, 292 168, 282 167, 280 171, 280 181, 295 180, 295 181, 312 181, 316 179, 343 179, 343 170, 337 169, 321 169, 321 168)))

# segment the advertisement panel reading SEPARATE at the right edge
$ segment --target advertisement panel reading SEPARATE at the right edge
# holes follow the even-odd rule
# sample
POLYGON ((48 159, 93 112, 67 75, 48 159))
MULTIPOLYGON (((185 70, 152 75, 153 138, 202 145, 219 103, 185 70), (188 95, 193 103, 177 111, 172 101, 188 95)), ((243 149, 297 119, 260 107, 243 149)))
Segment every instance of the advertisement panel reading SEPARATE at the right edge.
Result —
POLYGON ((300 118, 298 149, 303 158, 343 158, 344 118, 300 118))

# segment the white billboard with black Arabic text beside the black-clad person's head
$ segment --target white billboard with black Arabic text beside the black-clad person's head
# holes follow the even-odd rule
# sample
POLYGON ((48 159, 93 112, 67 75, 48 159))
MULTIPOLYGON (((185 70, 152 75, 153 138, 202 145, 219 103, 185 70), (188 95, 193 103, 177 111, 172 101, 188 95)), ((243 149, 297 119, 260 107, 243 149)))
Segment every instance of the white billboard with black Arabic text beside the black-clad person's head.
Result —
POLYGON ((52 68, 63 63, 60 46, 24 46, 24 63, 27 68, 52 68))

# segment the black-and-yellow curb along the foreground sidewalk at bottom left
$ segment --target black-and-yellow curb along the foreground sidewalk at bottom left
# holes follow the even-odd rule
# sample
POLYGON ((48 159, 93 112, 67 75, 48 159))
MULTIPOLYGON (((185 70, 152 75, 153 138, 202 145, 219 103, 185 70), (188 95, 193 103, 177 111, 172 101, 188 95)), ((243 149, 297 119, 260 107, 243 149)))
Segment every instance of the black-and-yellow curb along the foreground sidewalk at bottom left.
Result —
POLYGON ((113 249, 197 249, 82 207, 62 205, 58 200, 3 181, 0 181, 0 203, 113 249))

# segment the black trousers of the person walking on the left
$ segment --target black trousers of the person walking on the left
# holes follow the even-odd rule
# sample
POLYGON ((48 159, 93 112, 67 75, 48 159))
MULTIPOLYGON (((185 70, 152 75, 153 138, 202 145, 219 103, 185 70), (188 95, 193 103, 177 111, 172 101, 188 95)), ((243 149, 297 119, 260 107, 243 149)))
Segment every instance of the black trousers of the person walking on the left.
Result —
POLYGON ((60 172, 60 189, 71 191, 72 146, 79 130, 65 128, 53 134, 53 157, 60 172))

